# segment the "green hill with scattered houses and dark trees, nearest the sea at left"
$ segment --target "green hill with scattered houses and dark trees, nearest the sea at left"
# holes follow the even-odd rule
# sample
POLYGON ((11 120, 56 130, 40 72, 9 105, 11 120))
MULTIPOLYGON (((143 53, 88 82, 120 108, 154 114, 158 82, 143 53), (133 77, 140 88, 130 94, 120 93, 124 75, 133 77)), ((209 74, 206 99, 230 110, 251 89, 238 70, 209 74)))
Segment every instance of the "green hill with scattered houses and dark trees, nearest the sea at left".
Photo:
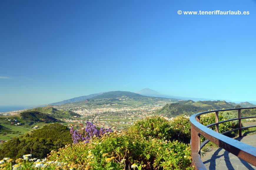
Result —
POLYGON ((0 140, 10 140, 31 131, 34 126, 41 128, 47 123, 60 122, 59 119, 73 116, 80 115, 70 110, 58 110, 52 106, 30 109, 12 116, 0 116, 0 140))

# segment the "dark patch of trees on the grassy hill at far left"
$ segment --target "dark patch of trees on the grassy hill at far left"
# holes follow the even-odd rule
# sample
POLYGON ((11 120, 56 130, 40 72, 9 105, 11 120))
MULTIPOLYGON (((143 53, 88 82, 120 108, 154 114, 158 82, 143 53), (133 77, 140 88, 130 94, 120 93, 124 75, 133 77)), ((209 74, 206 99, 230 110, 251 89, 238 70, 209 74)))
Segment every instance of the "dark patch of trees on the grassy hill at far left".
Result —
POLYGON ((34 122, 57 122, 58 120, 51 117, 49 114, 41 113, 38 111, 25 111, 20 114, 22 117, 34 122))

